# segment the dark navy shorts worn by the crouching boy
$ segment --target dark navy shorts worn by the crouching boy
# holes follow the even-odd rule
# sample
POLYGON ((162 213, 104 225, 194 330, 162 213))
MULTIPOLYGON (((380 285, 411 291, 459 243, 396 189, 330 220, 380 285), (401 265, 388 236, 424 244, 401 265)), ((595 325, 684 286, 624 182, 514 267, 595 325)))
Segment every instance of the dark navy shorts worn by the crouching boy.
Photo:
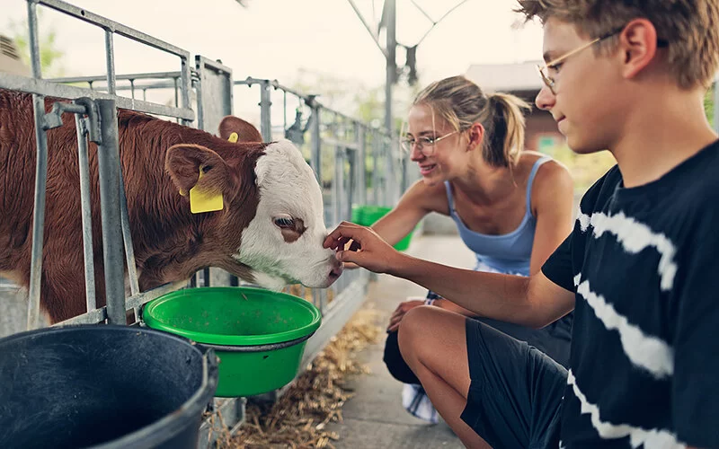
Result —
POLYGON ((466 320, 471 383, 462 420, 495 448, 559 447, 567 372, 523 341, 466 320))

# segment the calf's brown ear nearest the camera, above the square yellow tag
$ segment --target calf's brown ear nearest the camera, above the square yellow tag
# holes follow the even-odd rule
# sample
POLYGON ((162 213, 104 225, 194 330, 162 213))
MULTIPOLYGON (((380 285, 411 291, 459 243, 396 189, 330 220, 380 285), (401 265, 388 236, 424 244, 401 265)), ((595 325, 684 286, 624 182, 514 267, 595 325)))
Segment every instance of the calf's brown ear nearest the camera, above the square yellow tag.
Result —
POLYGON ((217 192, 231 200, 239 188, 239 180, 225 160, 202 145, 171 146, 164 156, 164 169, 182 196, 197 186, 202 191, 217 192))

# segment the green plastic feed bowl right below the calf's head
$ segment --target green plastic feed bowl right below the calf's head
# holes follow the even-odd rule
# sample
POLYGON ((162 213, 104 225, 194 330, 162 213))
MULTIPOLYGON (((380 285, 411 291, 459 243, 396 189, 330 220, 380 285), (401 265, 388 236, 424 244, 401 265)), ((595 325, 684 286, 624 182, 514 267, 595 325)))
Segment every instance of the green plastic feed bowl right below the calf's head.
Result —
POLYGON ((277 390, 297 375, 320 312, 297 296, 253 287, 187 288, 146 304, 143 321, 215 349, 216 396, 277 390))

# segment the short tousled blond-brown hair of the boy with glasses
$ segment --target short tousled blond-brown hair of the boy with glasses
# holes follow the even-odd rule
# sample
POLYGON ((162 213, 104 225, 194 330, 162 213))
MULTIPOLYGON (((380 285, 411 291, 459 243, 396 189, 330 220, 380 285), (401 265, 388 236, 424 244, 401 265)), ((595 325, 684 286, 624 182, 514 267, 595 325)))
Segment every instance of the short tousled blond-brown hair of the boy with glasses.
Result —
MULTIPOLYGON (((518 0, 527 21, 555 18, 596 38, 635 18, 648 19, 669 42, 667 66, 680 87, 708 87, 719 65, 719 0, 518 0)), ((608 39, 599 48, 608 48, 608 39)), ((601 51, 601 50, 599 50, 601 51)))

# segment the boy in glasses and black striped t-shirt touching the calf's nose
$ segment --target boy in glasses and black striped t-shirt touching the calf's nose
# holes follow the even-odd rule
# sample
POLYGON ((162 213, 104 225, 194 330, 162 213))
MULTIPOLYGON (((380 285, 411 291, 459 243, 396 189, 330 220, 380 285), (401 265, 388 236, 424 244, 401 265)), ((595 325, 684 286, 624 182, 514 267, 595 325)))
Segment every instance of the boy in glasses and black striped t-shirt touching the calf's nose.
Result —
POLYGON ((568 371, 455 313, 407 313, 402 355, 465 445, 719 447, 719 141, 702 104, 718 3, 519 0, 545 29, 537 107, 573 151, 617 159, 537 275, 417 260, 348 223, 327 237, 353 241, 338 259, 488 318, 542 327, 575 311, 568 371))

